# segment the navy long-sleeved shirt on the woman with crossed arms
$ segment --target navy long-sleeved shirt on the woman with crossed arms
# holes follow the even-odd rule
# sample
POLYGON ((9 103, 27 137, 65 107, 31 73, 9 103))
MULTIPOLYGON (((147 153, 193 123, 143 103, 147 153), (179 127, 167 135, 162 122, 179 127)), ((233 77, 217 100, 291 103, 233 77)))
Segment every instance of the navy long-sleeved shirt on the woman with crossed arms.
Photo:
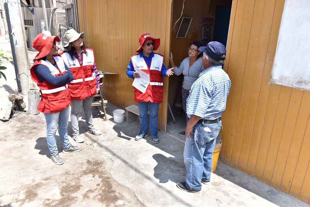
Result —
MULTIPOLYGON (((55 68, 58 69, 56 63, 54 66, 55 68)), ((65 85, 73 80, 71 70, 68 68, 66 64, 64 64, 64 67, 66 68, 65 74, 57 77, 53 76, 51 74, 51 70, 45 65, 35 65, 33 70, 37 75, 38 79, 41 81, 41 83, 43 83, 46 80, 55 86, 59 86, 59 85, 65 85)))

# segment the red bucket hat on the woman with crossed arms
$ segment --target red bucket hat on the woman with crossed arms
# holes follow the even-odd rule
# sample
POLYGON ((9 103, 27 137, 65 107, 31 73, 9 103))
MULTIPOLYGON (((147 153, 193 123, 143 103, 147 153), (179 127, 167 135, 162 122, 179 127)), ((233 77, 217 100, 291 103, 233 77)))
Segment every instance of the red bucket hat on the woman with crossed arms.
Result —
POLYGON ((32 47, 39 51, 39 53, 35 56, 35 59, 40 59, 47 56, 53 48, 54 40, 56 42, 60 42, 60 38, 57 36, 51 37, 43 33, 38 34, 32 41, 32 47))

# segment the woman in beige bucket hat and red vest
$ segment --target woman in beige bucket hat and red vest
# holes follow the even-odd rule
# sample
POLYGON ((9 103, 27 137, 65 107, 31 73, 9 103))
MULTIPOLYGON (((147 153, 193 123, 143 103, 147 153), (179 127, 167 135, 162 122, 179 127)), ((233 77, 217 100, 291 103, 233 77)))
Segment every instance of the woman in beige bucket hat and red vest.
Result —
POLYGON ((91 102, 93 96, 99 92, 99 77, 95 64, 94 51, 86 48, 83 42, 84 32, 77 33, 74 29, 69 29, 64 34, 64 52, 61 57, 70 68, 73 74, 73 81, 69 85, 71 93, 71 124, 72 137, 75 142, 84 142, 79 133, 78 114, 80 112, 81 103, 87 123, 87 132, 96 136, 101 132, 94 128, 93 116, 91 111, 91 102))

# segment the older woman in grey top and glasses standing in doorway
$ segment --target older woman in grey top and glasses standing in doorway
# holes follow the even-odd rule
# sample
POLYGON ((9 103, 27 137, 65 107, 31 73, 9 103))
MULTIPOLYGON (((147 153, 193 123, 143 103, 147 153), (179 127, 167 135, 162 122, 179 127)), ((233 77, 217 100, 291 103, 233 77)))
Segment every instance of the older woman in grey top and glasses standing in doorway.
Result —
MULTIPOLYGON (((182 106, 183 110, 186 114, 186 99, 189 96, 189 91, 193 83, 198 79, 199 74, 204 71, 204 67, 202 66, 201 56, 202 53, 198 51, 198 48, 202 47, 202 43, 199 41, 195 41, 191 43, 188 47, 188 57, 185 58, 179 67, 175 66, 173 61, 172 53, 170 52, 170 64, 174 68, 173 72, 175 75, 180 75, 183 73, 184 81, 182 86, 182 106)), ((186 116, 186 123, 188 121, 188 117, 186 116)), ((185 136, 185 131, 179 133, 179 136, 185 136)))

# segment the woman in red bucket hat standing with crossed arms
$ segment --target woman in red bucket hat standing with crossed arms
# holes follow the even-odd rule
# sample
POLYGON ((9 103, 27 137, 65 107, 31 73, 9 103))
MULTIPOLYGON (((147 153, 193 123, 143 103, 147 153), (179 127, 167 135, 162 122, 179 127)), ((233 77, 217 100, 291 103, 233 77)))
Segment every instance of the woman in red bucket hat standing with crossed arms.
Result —
POLYGON ((30 69, 31 77, 38 84, 41 100, 38 110, 44 113, 46 120, 46 140, 51 151, 51 160, 55 164, 63 164, 56 146, 55 134, 58 128, 63 153, 81 151, 82 147, 72 146, 68 138, 68 119, 70 92, 67 84, 73 80, 73 75, 60 56, 57 56, 57 36, 38 34, 32 42, 32 47, 39 51, 30 69))

